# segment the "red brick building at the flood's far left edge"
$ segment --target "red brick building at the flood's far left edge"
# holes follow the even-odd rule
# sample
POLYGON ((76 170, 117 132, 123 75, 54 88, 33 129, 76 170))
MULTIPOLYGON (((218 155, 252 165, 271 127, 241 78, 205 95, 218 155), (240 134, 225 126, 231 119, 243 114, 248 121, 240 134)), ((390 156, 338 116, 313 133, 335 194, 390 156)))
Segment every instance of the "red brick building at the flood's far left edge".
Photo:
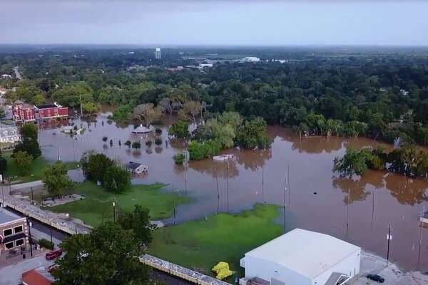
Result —
POLYGON ((36 120, 49 120, 68 117, 68 107, 58 103, 34 106, 16 101, 12 108, 12 115, 16 122, 28 123, 36 120))

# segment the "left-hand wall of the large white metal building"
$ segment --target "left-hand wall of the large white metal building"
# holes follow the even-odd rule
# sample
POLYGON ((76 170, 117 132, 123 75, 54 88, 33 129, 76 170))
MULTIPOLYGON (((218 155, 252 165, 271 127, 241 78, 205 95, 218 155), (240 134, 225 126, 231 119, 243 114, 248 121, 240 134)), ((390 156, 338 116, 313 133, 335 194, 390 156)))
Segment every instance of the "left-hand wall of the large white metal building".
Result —
POLYGON ((310 285, 310 279, 279 264, 255 257, 245 257, 245 279, 259 277, 270 281, 277 279, 285 285, 310 285))

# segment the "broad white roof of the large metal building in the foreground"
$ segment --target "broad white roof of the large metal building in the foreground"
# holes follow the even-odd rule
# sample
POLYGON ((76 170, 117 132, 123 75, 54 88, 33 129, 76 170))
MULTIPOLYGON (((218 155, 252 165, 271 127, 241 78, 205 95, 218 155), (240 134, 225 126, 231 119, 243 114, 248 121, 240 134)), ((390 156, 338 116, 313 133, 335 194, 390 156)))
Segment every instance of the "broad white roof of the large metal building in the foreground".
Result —
POLYGON ((360 250, 360 247, 328 234, 293 229, 247 252, 245 257, 271 261, 314 279, 337 262, 360 250))

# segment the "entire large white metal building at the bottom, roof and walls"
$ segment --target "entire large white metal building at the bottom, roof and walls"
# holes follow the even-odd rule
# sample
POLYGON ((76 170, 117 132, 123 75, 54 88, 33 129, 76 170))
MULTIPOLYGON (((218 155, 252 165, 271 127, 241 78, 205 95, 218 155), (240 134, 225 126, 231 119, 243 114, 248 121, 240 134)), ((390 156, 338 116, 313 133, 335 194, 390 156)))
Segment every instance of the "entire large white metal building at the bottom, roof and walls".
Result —
POLYGON ((360 273, 360 256, 353 244, 293 229, 245 254, 240 284, 345 285, 360 273))

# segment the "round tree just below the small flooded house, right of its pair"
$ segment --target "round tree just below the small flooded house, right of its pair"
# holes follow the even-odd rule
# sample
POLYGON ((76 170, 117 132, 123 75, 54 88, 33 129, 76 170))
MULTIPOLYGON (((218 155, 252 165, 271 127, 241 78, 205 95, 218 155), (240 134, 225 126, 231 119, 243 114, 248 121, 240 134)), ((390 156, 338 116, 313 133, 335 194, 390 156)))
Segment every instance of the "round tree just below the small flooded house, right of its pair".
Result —
POLYGON ((131 187, 131 175, 123 167, 111 165, 105 170, 103 186, 111 192, 124 192, 131 187))

